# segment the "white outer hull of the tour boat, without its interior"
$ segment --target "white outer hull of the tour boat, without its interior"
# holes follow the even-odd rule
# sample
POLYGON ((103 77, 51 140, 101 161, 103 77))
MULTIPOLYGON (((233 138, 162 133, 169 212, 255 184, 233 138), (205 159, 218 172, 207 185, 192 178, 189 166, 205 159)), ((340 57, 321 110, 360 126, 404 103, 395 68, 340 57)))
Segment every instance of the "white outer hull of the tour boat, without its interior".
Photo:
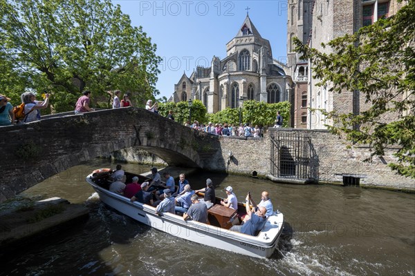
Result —
POLYGON ((183 217, 172 213, 158 215, 156 208, 152 206, 137 201, 131 202, 126 197, 111 193, 109 190, 97 186, 88 177, 86 181, 93 186, 104 204, 111 206, 118 212, 175 237, 206 246, 265 258, 273 254, 282 231, 284 222, 282 213, 270 216, 261 233, 253 237, 198 221, 185 221, 183 217))

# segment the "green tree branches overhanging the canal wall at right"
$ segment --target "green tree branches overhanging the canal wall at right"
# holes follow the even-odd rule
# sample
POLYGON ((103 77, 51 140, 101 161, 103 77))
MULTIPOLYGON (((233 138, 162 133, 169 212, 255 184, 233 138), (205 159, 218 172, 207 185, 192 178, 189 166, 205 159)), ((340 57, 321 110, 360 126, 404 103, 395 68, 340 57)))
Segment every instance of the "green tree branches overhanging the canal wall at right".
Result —
MULTIPOLYGON (((333 120, 328 128, 350 141, 369 144, 371 157, 385 155, 388 145, 398 145, 398 161, 389 166, 415 178, 415 1, 387 19, 333 39, 319 52, 295 39, 302 59, 310 59, 320 86, 333 83, 333 92, 360 91, 371 107, 358 115, 325 112, 333 120), (387 121, 390 116, 396 120, 387 121)), ((370 160, 370 159, 369 159, 370 160)))

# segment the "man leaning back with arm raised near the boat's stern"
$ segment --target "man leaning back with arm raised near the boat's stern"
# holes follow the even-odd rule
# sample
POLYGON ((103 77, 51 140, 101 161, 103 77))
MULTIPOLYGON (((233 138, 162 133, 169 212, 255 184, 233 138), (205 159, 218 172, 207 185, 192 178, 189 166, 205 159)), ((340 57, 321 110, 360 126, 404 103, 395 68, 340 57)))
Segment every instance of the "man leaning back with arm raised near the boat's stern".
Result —
POLYGON ((252 212, 249 206, 249 193, 246 195, 246 216, 243 219, 243 225, 234 225, 230 230, 255 236, 257 231, 260 231, 266 223, 266 208, 259 207, 257 212, 252 212))

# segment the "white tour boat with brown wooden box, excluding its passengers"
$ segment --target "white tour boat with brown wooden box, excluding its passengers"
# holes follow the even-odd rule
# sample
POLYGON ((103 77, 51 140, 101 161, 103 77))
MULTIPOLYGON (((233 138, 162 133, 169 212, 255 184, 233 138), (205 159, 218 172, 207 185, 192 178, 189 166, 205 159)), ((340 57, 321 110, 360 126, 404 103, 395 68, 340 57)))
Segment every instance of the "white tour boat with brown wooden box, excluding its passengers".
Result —
MULTIPOLYGON (((257 236, 229 230, 232 226, 230 221, 241 213, 246 213, 245 204, 238 203, 239 210, 232 210, 221 204, 213 205, 208 210, 209 224, 198 221, 184 220, 183 217, 172 213, 156 214, 156 208, 138 201, 131 202, 129 198, 108 190, 109 175, 111 170, 94 170, 86 177, 86 181, 94 188, 100 196, 100 200, 118 212, 147 224, 165 233, 169 233, 182 239, 213 246, 235 253, 249 255, 252 257, 270 257, 277 248, 279 235, 282 233, 284 215, 274 212, 268 217, 264 228, 257 236), (232 218, 232 219, 231 219, 232 218)), ((142 183, 148 178, 142 175, 125 173, 127 183, 133 176, 140 178, 142 183)), ((203 195, 203 193, 200 193, 203 195)), ((221 199, 216 197, 216 203, 221 199)))

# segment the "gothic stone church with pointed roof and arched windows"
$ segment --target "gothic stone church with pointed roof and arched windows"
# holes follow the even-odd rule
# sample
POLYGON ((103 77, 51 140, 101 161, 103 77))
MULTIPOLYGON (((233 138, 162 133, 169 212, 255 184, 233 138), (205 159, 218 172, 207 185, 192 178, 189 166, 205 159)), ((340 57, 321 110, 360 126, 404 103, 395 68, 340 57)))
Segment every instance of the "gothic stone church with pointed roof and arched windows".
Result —
POLYGON ((198 66, 174 85, 170 101, 200 99, 209 113, 238 108, 243 101, 291 101, 289 68, 273 59, 270 42, 261 37, 248 14, 237 35, 226 44, 226 57, 213 57, 211 66, 198 66))

